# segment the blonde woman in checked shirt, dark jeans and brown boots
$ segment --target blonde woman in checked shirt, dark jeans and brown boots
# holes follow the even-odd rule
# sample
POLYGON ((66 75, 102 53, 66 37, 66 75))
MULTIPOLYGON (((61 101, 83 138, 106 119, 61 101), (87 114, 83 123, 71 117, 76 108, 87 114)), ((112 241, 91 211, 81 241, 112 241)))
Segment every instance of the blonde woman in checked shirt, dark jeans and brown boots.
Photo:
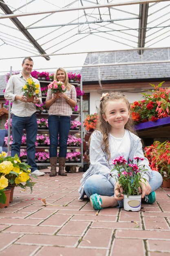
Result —
POLYGON ((54 75, 54 80, 61 81, 66 87, 66 92, 60 92, 60 99, 56 99, 51 89, 46 96, 46 107, 49 108, 49 136, 50 136, 50 176, 57 175, 57 146, 59 144, 59 172, 58 175, 66 176, 64 166, 66 162, 67 140, 71 125, 72 107, 77 105, 75 86, 68 83, 68 75, 64 68, 59 67, 54 75), (58 143, 59 136, 59 143, 58 143))

